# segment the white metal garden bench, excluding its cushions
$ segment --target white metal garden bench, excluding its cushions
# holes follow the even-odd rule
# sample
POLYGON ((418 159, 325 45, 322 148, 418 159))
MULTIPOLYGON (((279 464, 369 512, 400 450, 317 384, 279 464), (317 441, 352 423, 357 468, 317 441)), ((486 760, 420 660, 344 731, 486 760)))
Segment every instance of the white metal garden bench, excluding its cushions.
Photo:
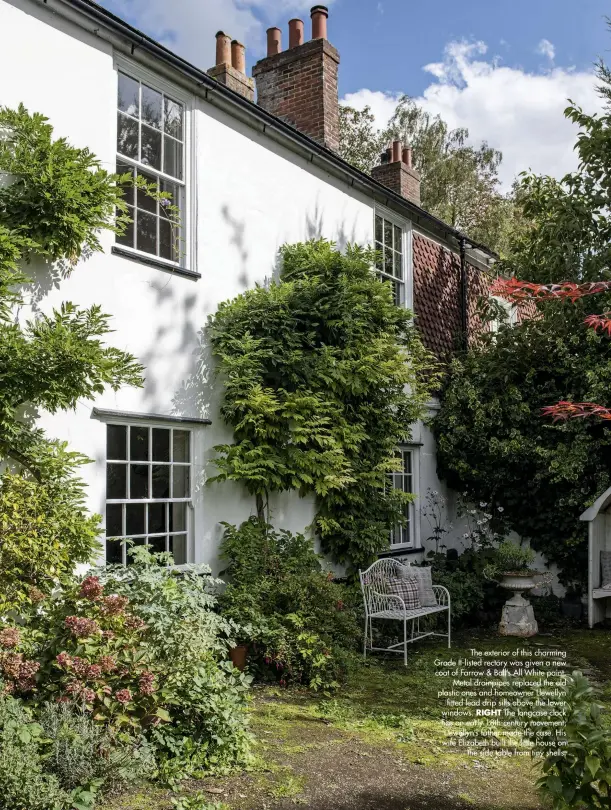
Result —
POLYGON ((448 647, 451 646, 451 610, 450 592, 443 585, 433 585, 433 592, 437 600, 434 607, 419 607, 408 610, 405 602, 400 596, 388 592, 388 580, 390 577, 401 576, 405 568, 409 568, 409 563, 405 564, 393 558, 383 558, 376 560, 366 571, 359 571, 361 580, 361 590, 365 603, 365 641, 363 645, 363 655, 367 657, 367 650, 379 650, 382 652, 401 652, 403 648, 403 659, 407 666, 407 645, 418 641, 426 636, 442 636, 448 639, 448 647), (448 632, 435 633, 433 631, 420 632, 420 619, 423 616, 430 616, 435 613, 448 612, 448 632), (403 641, 398 644, 391 644, 390 647, 374 647, 372 622, 374 619, 393 619, 403 622, 403 641), (411 622, 411 634, 408 638, 407 623, 411 622))

